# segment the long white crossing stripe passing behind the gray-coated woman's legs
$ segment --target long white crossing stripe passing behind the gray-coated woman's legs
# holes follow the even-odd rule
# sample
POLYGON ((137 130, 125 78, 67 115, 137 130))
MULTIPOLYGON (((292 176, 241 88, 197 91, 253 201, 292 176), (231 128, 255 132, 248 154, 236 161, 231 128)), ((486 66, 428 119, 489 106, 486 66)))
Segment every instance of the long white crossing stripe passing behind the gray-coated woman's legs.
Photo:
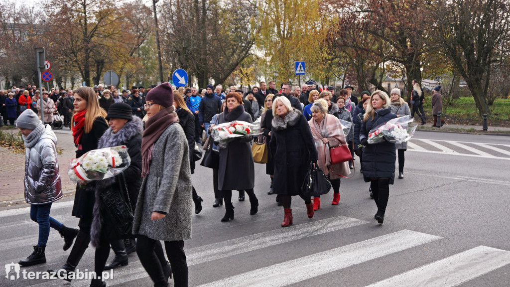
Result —
MULTIPOLYGON (((368 223, 368 221, 339 216, 333 219, 328 218, 296 225, 291 228, 278 228, 271 231, 233 238, 231 240, 186 250, 187 263, 188 266, 193 266, 211 260, 230 257, 248 251, 259 250, 273 245, 299 240, 304 237, 338 231, 366 223, 368 223)), ((114 272, 114 279, 108 280, 107 284, 121 284, 123 282, 129 282, 148 276, 139 260, 130 260, 129 266, 130 268, 116 269, 114 272)), ((76 280, 73 281, 72 285, 73 287, 85 287, 89 284, 90 281, 88 280, 76 280)), ((32 286, 49 287, 54 285, 55 282, 52 280, 32 286)))

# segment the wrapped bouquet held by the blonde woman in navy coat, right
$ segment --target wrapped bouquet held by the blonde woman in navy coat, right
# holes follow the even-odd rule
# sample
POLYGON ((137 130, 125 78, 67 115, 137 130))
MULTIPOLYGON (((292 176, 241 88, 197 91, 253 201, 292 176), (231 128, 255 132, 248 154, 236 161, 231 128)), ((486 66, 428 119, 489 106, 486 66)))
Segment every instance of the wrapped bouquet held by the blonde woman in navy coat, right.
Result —
POLYGON ((386 124, 370 130, 368 143, 379 143, 389 141, 402 143, 413 137, 417 125, 411 125, 413 119, 409 115, 390 119, 386 124))

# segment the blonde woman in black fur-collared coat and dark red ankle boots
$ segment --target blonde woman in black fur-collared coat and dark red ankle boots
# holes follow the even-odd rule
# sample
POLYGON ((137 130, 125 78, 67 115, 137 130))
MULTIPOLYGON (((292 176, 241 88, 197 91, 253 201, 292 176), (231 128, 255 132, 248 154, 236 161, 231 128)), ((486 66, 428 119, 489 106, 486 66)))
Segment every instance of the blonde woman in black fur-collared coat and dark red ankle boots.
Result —
POLYGON ((274 160, 273 192, 282 200, 285 211, 282 227, 286 227, 292 224, 292 196, 299 195, 307 205, 308 217, 314 216, 312 201, 301 195, 301 185, 318 154, 307 119, 292 108, 286 97, 274 99, 273 116, 269 143, 274 160))

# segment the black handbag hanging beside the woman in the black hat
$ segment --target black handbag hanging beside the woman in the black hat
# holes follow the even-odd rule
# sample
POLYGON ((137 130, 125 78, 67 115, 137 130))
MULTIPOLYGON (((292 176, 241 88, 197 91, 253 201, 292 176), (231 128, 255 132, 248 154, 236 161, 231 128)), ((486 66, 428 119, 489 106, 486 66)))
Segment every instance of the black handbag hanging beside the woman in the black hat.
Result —
POLYGON ((122 174, 122 180, 126 188, 127 202, 122 195, 121 188, 106 188, 101 192, 99 198, 103 203, 104 211, 111 221, 115 223, 113 226, 117 233, 120 235, 131 235, 134 220, 133 208, 131 207, 131 199, 124 174, 122 174))

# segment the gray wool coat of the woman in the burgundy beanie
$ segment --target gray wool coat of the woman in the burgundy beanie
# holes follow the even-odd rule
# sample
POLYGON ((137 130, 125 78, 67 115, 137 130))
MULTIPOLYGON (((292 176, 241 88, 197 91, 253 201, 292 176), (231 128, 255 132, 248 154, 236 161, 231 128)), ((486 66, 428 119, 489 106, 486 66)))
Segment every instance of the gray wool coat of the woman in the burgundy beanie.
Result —
POLYGON ((154 240, 191 238, 191 171, 189 146, 179 123, 169 125, 154 143, 149 173, 143 178, 135 209, 133 234, 154 240), (154 211, 165 218, 151 221, 154 211))

